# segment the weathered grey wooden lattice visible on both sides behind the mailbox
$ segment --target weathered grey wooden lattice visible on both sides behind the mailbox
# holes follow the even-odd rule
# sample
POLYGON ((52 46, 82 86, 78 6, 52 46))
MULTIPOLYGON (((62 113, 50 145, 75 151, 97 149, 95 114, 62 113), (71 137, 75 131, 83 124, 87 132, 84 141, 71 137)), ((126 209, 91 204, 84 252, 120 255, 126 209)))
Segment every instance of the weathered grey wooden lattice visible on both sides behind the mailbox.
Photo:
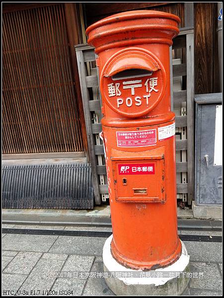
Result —
MULTIPOLYGON (((183 28, 173 40, 172 49, 184 52, 180 64, 171 66, 171 84, 176 77, 185 82, 172 92, 172 107, 176 114, 176 172, 177 198, 191 204, 194 198, 194 29, 183 28)), ((88 135, 89 157, 92 165, 95 202, 108 197, 104 149, 99 140, 102 131, 101 105, 95 68, 95 54, 88 45, 76 46, 78 72, 88 135)), ((171 90, 172 91, 172 90, 171 90)))

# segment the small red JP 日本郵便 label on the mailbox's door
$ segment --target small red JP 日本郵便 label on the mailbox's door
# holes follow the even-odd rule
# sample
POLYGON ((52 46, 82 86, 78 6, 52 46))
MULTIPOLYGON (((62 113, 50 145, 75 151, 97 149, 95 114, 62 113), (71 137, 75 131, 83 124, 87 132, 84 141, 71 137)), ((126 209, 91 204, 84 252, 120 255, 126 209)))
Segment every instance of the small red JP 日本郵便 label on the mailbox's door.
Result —
POLYGON ((119 175, 150 175, 155 173, 154 163, 118 164, 119 175))

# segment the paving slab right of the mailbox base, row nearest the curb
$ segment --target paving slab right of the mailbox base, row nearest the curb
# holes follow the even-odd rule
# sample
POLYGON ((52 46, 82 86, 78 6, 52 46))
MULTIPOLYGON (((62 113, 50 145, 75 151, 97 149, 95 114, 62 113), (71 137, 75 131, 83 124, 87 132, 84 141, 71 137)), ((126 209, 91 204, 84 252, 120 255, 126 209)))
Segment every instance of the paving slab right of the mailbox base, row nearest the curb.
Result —
POLYGON ((183 242, 191 261, 222 263, 222 242, 183 242))

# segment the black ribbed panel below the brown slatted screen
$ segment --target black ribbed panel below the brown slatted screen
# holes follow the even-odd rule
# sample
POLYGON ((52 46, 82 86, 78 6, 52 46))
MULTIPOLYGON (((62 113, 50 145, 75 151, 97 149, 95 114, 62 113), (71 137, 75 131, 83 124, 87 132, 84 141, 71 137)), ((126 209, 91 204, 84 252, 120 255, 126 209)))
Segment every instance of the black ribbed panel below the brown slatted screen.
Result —
POLYGON ((91 166, 4 165, 2 208, 92 209, 91 166))

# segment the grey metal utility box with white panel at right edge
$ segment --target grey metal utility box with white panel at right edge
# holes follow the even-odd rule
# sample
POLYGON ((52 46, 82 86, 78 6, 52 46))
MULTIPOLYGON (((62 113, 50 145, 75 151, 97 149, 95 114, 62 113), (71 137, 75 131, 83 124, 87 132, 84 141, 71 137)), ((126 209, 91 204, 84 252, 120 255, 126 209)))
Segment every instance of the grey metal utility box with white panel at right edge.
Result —
POLYGON ((195 95, 195 204, 222 205, 222 93, 195 95))

